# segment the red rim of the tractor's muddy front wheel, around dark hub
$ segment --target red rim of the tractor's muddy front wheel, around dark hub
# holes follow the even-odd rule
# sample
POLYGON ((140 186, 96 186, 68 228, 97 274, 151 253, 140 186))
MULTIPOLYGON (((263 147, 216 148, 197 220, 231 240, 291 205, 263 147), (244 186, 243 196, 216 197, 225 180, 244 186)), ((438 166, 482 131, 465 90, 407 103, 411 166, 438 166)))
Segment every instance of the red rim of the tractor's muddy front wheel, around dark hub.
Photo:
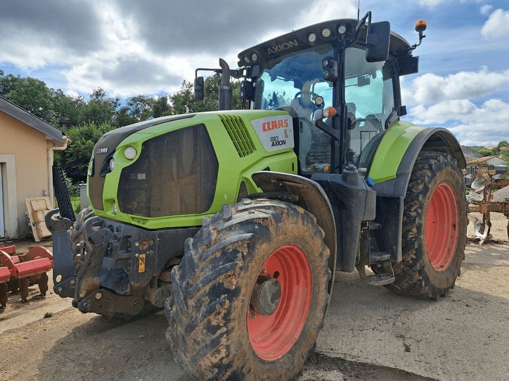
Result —
POLYGON ((304 328, 311 304, 311 269, 300 247, 284 245, 267 258, 261 271, 277 278, 281 299, 269 316, 247 311, 247 334, 258 357, 274 361, 291 350, 304 328))

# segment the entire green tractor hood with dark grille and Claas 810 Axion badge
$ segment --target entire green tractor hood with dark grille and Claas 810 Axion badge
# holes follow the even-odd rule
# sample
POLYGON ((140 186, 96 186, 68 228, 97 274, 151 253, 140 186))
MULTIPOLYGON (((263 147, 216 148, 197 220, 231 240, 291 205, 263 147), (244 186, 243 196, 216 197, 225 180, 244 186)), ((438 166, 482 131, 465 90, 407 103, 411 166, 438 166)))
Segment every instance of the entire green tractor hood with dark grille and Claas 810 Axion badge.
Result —
POLYGON ((295 172, 294 141, 286 111, 205 112, 125 126, 103 135, 94 147, 89 200, 97 215, 148 229, 167 227, 164 219, 174 216, 201 223, 191 216, 203 218, 224 202, 234 203, 239 174, 266 169, 269 156, 284 156, 271 169, 280 165, 280 171, 295 172))

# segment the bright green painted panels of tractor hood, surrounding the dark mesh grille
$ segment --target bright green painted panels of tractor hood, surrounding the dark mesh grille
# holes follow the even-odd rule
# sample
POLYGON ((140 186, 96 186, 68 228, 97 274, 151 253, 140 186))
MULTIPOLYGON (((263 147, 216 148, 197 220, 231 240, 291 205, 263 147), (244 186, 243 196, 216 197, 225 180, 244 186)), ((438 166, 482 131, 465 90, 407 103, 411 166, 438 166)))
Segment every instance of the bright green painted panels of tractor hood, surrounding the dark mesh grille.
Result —
MULTIPOLYGON (((276 115, 288 116, 289 114, 285 111, 272 110, 205 112, 197 113, 191 118, 153 125, 142 131, 133 133, 124 139, 116 148, 113 156, 115 158, 115 168, 113 171, 106 174, 105 177, 103 189, 104 210, 94 209, 95 214, 124 221, 145 229, 201 226, 205 216, 214 215, 221 209, 223 204, 234 204, 237 201, 239 187, 242 181, 244 181, 248 193, 261 192, 261 189, 257 188, 251 178, 254 172, 262 171, 270 167, 271 171, 297 173, 297 156, 293 149, 286 147, 275 151, 267 151, 250 122, 254 119, 276 115), (239 153, 232 139, 219 118, 220 115, 235 115, 243 119, 256 148, 253 153, 244 157, 239 157, 239 153), (210 209, 199 214, 172 215, 156 218, 123 213, 117 202, 117 189, 119 188, 120 174, 123 168, 137 160, 142 150, 143 142, 156 136, 196 124, 205 125, 219 164, 215 195, 210 209), (127 146, 136 148, 137 156, 134 160, 127 160, 124 157, 124 148, 127 146), (117 214, 112 212, 112 203, 114 202, 117 205, 117 214)), ((90 195, 88 196, 90 201, 90 195)), ((168 197, 171 197, 171 195, 168 195, 168 197)))

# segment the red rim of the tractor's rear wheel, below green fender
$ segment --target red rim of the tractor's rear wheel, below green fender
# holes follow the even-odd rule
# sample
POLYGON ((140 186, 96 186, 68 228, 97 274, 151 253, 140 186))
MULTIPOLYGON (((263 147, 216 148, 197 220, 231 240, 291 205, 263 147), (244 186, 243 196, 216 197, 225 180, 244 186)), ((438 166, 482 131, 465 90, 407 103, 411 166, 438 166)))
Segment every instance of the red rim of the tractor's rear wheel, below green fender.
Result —
POLYGON ((431 266, 445 271, 458 244, 458 203, 453 188, 442 182, 433 191, 426 216, 426 250, 431 266))

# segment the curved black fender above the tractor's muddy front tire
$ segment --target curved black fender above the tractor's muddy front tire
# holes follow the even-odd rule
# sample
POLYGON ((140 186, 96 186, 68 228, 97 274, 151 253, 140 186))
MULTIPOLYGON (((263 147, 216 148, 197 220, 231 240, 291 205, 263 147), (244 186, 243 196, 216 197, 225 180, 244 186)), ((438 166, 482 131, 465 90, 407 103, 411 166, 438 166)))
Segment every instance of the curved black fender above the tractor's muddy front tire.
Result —
MULTIPOLYGON (((336 224, 329 199, 322 187, 306 177, 281 172, 260 171, 253 173, 252 179, 263 192, 285 192, 298 196, 294 204, 315 216, 318 226, 325 232, 324 241, 330 251, 329 296, 331 296, 336 269, 336 224)), ((327 309, 328 306, 325 309, 325 315, 327 315, 327 309)))

